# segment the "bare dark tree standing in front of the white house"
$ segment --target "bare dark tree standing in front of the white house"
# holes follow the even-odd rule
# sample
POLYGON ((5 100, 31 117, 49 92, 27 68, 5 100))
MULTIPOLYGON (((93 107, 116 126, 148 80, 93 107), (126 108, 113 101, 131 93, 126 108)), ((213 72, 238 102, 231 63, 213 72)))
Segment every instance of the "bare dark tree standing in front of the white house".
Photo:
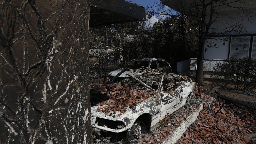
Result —
MULTIPOLYGON (((161 0, 163 3, 169 0, 161 0)), ((175 0, 172 3, 173 8, 175 8, 178 13, 173 13, 170 8, 166 5, 160 3, 157 5, 158 11, 149 11, 154 14, 168 15, 170 17, 176 18, 180 22, 181 32, 183 36, 183 42, 185 47, 197 55, 197 69, 196 69, 196 82, 199 85, 203 85, 203 58, 205 43, 209 35, 228 35, 231 32, 236 32, 237 34, 245 32, 245 28, 240 23, 236 21, 234 17, 226 14, 222 9, 232 9, 238 11, 238 13, 243 13, 248 20, 255 16, 254 13, 248 10, 251 0, 175 0), (178 17, 177 17, 178 15, 178 17), (197 22, 198 28, 198 47, 196 50, 189 47, 188 41, 189 37, 186 36, 186 26, 185 20, 187 17, 193 18, 197 22), (222 23, 220 21, 221 17, 226 17, 230 22, 223 23, 222 27, 213 27, 214 23, 222 23), (212 32, 209 30, 215 30, 212 32)), ((226 41, 226 40, 224 40, 226 41)), ((216 46, 216 45, 215 45, 216 46)))

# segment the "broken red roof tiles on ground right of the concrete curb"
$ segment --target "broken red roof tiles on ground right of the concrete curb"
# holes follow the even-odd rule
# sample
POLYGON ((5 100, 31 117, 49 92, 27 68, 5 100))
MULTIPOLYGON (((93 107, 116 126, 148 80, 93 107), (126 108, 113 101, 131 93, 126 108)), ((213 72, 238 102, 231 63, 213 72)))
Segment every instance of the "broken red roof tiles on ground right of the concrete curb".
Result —
MULTIPOLYGON (((211 93, 195 90, 197 97, 208 101, 211 93)), ((210 108, 204 105, 197 121, 176 144, 256 144, 256 112, 216 100, 210 108)))

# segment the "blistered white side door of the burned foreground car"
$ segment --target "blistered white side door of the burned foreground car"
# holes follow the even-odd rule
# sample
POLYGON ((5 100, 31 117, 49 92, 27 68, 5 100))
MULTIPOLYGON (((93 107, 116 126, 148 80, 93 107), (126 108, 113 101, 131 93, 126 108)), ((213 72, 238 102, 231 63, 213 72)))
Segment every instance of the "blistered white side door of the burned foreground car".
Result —
POLYGON ((172 92, 161 91, 161 120, 167 120, 170 116, 175 114, 175 112, 182 106, 181 102, 183 100, 183 90, 179 85, 172 92))

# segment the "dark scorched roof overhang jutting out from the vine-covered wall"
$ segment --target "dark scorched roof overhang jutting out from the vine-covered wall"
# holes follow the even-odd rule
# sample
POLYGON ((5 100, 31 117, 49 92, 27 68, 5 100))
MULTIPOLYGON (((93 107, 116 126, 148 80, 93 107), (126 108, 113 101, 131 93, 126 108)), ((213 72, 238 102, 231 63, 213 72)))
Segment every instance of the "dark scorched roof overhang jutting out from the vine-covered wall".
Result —
POLYGON ((89 27, 146 20, 146 9, 125 0, 96 0, 90 6, 89 27))

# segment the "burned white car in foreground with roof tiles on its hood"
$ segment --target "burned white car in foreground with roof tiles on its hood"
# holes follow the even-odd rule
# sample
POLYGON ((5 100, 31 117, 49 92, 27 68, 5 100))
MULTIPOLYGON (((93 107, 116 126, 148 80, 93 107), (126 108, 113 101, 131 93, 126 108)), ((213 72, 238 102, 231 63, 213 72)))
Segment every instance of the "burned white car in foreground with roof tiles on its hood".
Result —
POLYGON ((91 85, 91 121, 96 130, 120 133, 127 130, 129 140, 154 130, 181 110, 194 89, 194 83, 181 74, 167 74, 142 67, 131 70, 114 83, 122 70, 109 82, 91 85), (139 77, 131 73, 141 73, 139 77))

